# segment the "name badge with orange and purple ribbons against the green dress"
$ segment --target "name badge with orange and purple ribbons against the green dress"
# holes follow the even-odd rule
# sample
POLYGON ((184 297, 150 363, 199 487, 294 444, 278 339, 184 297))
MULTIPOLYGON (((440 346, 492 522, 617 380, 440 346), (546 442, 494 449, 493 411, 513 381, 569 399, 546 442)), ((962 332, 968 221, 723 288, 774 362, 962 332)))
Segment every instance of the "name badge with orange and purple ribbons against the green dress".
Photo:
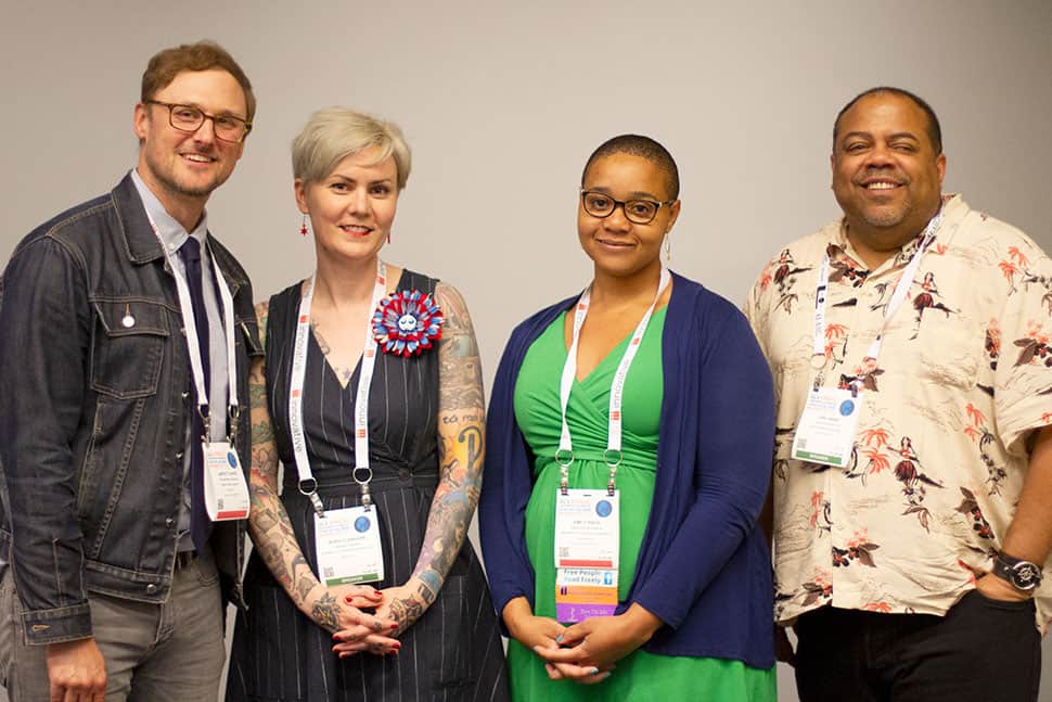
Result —
POLYGON ((617 608, 620 528, 617 490, 555 497, 555 618, 580 622, 617 608))

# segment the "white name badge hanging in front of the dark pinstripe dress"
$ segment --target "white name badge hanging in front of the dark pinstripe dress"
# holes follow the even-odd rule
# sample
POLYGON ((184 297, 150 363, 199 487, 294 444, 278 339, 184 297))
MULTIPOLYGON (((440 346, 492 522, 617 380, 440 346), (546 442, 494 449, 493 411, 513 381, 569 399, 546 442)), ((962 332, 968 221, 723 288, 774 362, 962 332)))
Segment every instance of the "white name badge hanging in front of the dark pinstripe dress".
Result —
POLYGON ((384 579, 376 506, 347 507, 315 514, 318 579, 325 587, 377 583, 384 579))

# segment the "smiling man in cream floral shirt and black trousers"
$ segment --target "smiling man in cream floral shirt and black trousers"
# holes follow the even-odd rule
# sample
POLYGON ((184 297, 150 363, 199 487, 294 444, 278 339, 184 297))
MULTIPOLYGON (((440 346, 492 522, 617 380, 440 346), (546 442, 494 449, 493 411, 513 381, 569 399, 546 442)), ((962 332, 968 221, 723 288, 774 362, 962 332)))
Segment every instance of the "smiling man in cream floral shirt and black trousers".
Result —
POLYGON ((778 394, 775 616, 800 699, 1036 700, 1052 263, 941 193, 939 124, 909 92, 848 103, 831 163, 844 217, 746 304, 778 394))

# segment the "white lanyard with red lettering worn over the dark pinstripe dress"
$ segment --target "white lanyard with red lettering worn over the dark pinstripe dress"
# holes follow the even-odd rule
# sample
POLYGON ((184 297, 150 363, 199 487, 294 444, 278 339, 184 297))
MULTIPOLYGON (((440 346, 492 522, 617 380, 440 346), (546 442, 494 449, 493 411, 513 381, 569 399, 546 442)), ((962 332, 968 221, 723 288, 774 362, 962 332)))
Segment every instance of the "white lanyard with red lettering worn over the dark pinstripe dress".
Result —
MULTIPOLYGON (((387 267, 376 260, 376 283, 370 309, 376 309, 387 294, 387 267)), ((315 277, 307 279, 307 289, 299 301, 299 317, 296 320, 296 342, 293 347, 292 380, 288 392, 288 431, 292 434, 292 448, 296 455, 296 470, 299 473, 299 492, 310 498, 319 516, 324 515, 321 498, 318 497, 318 481, 310 471, 307 457, 307 439, 304 435, 304 373, 307 370, 307 339, 310 334, 310 303, 315 296, 315 277)), ((372 506, 369 482, 373 477, 369 468, 369 388, 372 385, 373 368, 376 363, 376 340, 373 337, 372 315, 365 321, 365 343, 361 350, 361 372, 358 375, 358 392, 355 396, 355 470, 351 475, 361 486, 361 503, 368 510, 372 506)))

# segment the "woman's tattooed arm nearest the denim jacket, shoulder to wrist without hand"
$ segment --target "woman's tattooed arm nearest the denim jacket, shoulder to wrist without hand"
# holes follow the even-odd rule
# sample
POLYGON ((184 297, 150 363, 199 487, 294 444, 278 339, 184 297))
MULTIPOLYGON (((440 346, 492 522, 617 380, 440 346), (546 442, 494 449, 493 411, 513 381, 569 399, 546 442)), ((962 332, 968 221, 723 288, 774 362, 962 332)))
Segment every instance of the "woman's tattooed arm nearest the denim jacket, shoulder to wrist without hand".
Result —
MULTIPOLYGON (((260 336, 266 334, 268 311, 267 303, 256 306, 260 336)), ((266 359, 256 360, 248 374, 252 416, 252 472, 248 478, 252 510, 248 513, 248 533, 264 563, 296 607, 320 626, 335 631, 338 603, 311 572, 278 494, 278 447, 267 408, 265 363, 266 359)))

